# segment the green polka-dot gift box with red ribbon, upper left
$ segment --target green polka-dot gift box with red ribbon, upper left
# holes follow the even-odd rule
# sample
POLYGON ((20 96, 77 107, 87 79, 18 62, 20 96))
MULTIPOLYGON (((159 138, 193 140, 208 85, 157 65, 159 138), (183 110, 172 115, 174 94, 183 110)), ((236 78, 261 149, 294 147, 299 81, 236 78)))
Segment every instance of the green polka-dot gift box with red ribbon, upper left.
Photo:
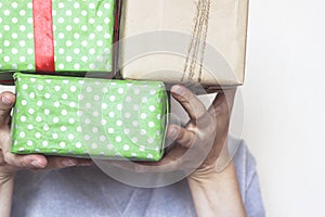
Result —
POLYGON ((107 77, 114 17, 115 0, 1 1, 0 80, 13 72, 107 77))

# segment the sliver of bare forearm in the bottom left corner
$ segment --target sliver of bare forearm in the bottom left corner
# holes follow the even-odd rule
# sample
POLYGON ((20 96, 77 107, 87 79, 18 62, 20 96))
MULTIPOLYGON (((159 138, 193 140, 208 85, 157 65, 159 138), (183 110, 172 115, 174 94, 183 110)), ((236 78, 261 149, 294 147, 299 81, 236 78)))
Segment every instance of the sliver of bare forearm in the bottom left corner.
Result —
POLYGON ((0 216, 10 217, 14 177, 0 177, 0 216))

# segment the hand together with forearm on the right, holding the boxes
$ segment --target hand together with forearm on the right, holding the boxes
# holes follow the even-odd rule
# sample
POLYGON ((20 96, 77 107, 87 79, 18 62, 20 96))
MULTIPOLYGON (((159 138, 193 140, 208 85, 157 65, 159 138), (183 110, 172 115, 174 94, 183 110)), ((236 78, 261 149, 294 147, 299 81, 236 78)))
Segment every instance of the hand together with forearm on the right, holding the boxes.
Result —
POLYGON ((171 94, 191 120, 185 127, 169 125, 167 137, 176 145, 160 162, 139 163, 134 169, 139 173, 155 173, 158 168, 159 171, 191 171, 187 181, 198 216, 245 216, 233 163, 221 173, 216 169, 218 159, 230 159, 223 148, 235 90, 218 93, 209 110, 182 86, 173 86, 171 94))

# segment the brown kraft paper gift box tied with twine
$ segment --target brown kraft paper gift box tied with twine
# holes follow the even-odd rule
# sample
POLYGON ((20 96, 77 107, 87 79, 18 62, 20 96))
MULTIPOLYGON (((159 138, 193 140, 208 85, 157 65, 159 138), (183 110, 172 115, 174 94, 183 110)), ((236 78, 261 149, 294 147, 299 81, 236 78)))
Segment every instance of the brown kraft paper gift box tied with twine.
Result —
POLYGON ((121 78, 243 85, 247 11, 248 0, 123 1, 121 78))

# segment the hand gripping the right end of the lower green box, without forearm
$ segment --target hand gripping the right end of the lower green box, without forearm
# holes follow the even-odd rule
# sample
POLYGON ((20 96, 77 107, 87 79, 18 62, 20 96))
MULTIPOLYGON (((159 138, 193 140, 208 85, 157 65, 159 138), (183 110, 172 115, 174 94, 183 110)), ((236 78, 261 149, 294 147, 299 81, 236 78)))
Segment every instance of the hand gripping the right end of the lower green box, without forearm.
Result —
POLYGON ((174 146, 160 162, 136 164, 115 162, 115 165, 139 173, 183 170, 191 174, 188 178, 203 173, 216 173, 217 159, 226 143, 235 89, 219 92, 209 110, 206 110, 205 105, 182 86, 173 86, 171 94, 191 118, 185 127, 169 125, 167 137, 174 141, 174 146))

